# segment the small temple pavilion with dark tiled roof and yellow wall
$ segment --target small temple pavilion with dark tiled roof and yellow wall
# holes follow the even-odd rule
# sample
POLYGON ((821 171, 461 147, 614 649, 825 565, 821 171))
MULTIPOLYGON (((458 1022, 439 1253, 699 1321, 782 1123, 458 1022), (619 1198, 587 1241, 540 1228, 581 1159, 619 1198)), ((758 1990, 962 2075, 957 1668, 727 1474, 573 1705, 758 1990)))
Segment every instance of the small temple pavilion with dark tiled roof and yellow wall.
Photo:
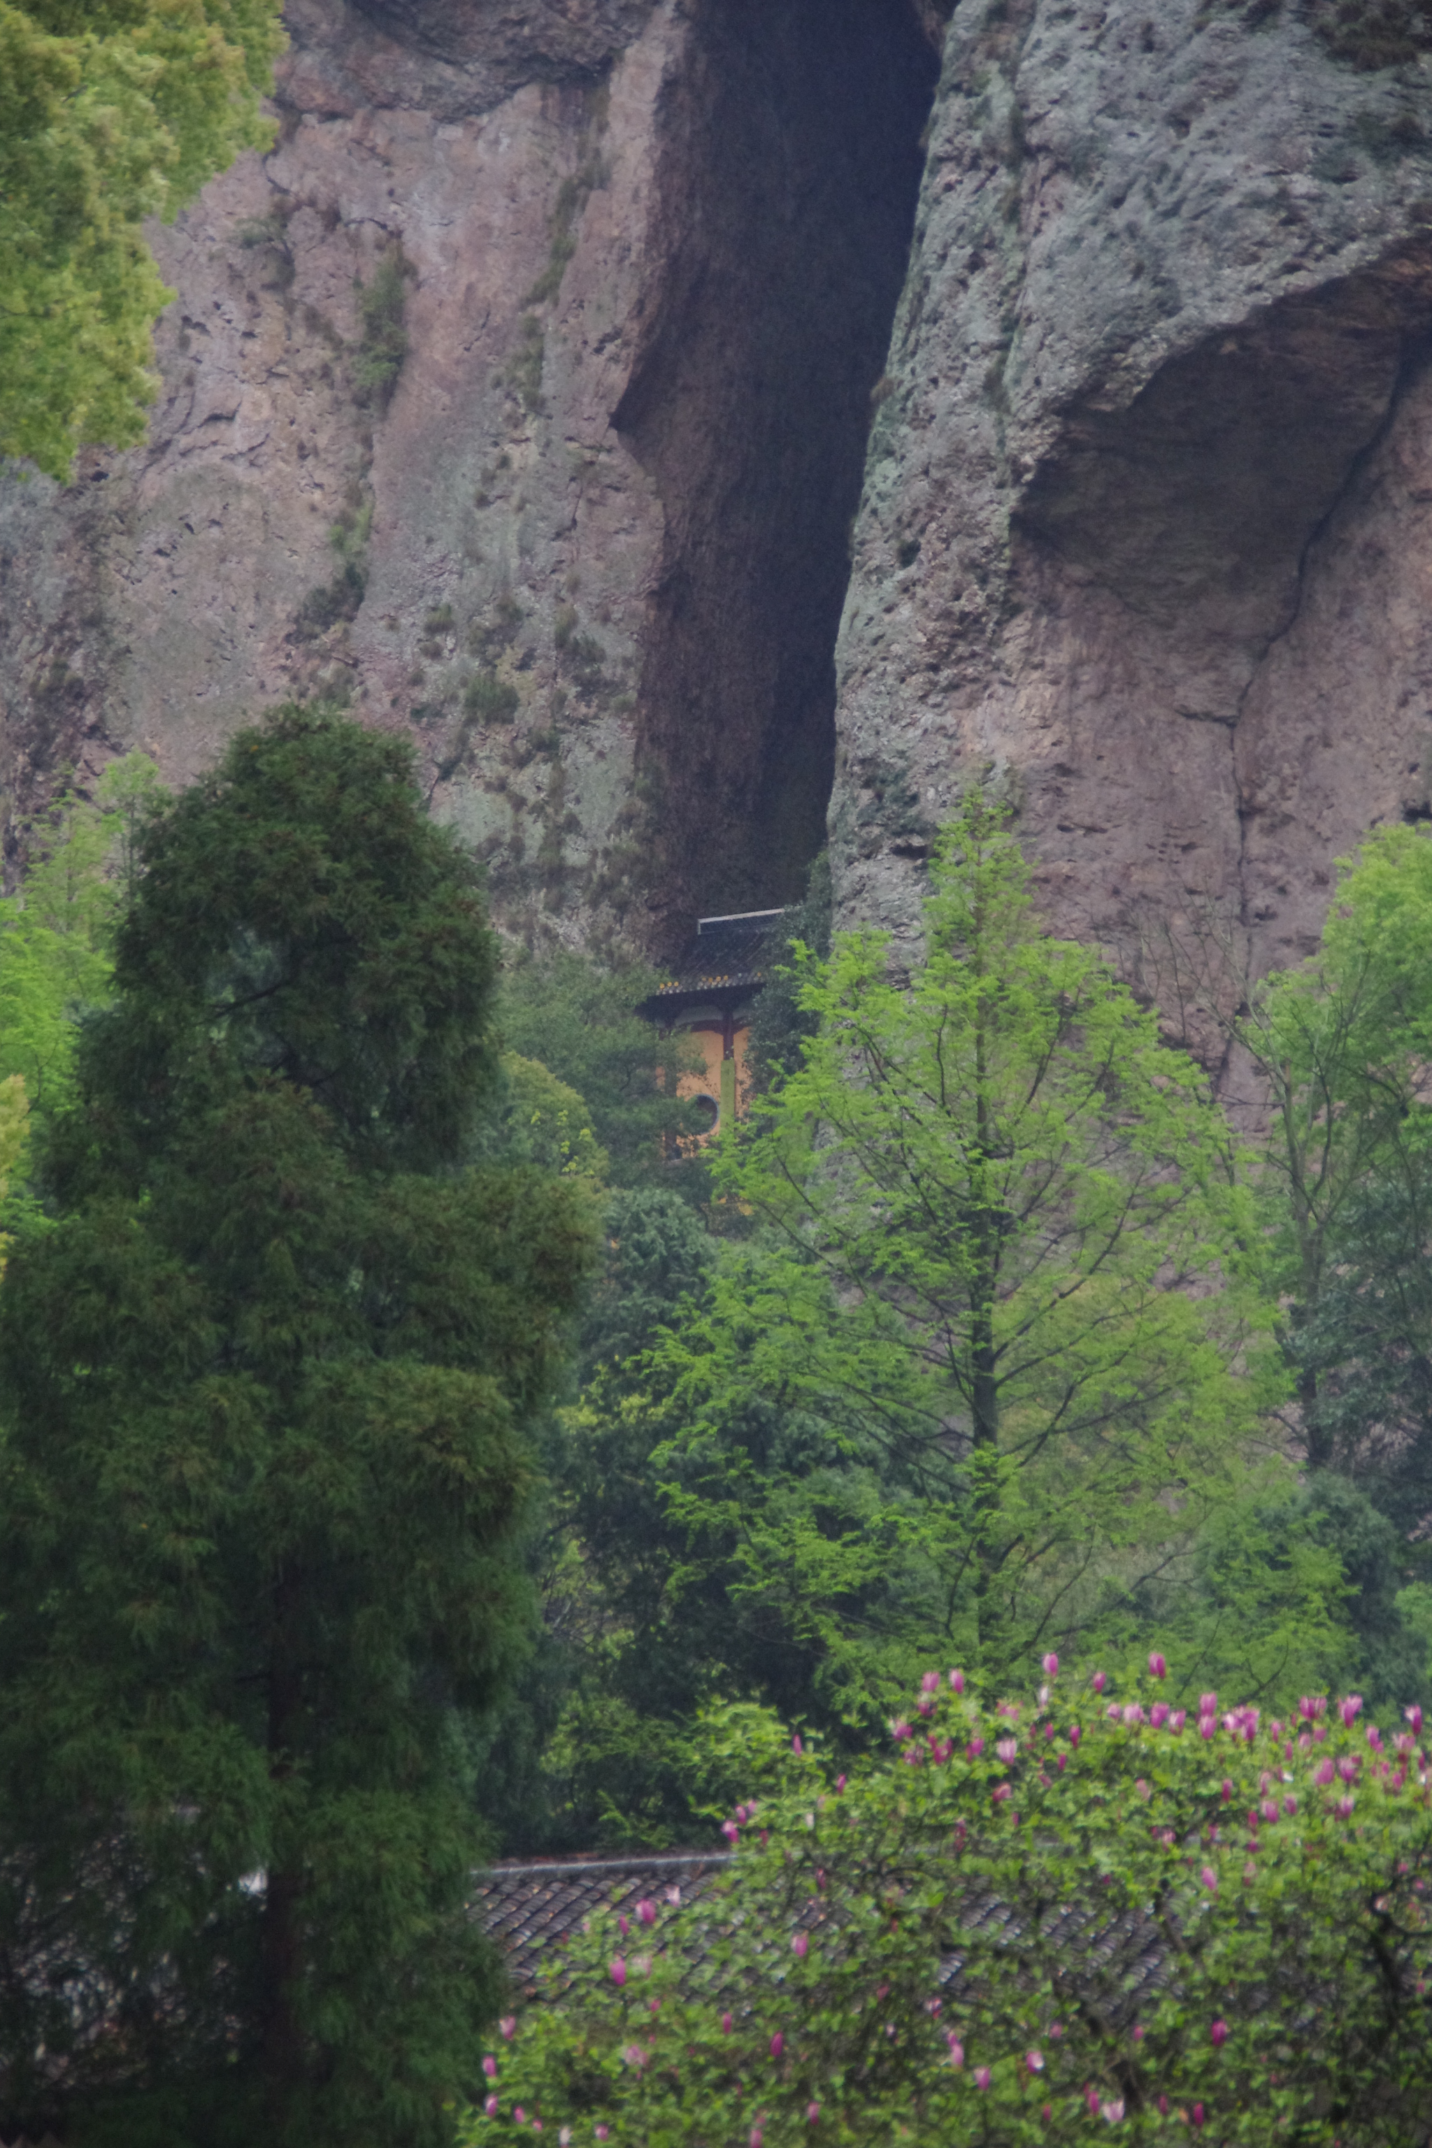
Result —
POLYGON ((676 1089, 702 1108, 706 1136, 745 1108, 751 1012, 786 956, 784 919, 786 911, 700 917, 668 977, 638 1007, 663 1035, 685 1031, 700 1044, 704 1065, 683 1074, 676 1089))

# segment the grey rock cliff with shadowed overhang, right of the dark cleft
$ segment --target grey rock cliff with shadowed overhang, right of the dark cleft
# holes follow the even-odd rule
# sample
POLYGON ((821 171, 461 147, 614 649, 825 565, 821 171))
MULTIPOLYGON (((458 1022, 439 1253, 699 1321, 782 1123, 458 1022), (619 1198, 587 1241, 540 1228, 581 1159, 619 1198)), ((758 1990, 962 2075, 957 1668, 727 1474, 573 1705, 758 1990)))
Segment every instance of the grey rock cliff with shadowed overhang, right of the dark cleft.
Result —
POLYGON ((990 765, 1052 917, 1155 984, 1219 919, 1232 969, 1297 958, 1357 833, 1428 816, 1432 75, 1391 13, 955 9, 839 638, 846 915, 908 926, 990 765))

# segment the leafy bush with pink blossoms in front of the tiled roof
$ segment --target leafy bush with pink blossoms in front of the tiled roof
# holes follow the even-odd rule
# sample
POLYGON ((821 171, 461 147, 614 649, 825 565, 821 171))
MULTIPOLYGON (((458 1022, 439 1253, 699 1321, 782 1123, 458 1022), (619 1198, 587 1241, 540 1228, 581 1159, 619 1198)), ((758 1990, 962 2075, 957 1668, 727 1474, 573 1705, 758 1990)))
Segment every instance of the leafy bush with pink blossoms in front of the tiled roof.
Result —
POLYGON ((590 1920, 500 2023, 466 2148, 1421 2142, 1421 1712, 1185 1716, 1149 1667, 1046 1656, 998 1706, 932 1671, 850 1779, 792 1740, 713 1895, 590 1920))

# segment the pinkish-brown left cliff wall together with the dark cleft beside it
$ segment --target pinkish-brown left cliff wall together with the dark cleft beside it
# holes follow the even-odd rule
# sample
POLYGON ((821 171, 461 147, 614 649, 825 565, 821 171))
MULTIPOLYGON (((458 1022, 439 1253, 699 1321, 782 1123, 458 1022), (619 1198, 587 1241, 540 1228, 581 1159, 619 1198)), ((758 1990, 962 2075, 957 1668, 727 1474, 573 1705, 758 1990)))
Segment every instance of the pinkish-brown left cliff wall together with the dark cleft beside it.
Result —
POLYGON ((150 445, 0 496, 11 829, 292 692, 414 732, 517 930, 822 842, 938 30, 912 0, 292 0, 275 150, 155 236, 150 445), (395 357, 406 337, 401 369, 395 357), (395 376, 395 378, 393 378, 395 376))

